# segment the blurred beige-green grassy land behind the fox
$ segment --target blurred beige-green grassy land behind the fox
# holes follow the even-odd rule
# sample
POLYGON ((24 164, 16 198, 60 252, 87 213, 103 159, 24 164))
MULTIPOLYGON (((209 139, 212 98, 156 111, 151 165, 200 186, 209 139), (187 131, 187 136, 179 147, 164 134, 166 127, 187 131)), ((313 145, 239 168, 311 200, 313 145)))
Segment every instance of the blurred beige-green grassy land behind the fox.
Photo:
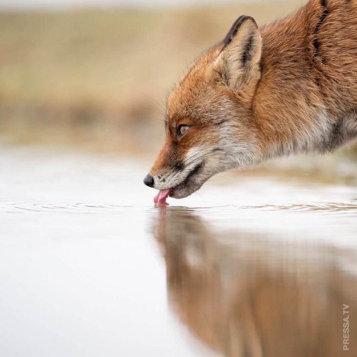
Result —
MULTIPOLYGON (((264 24, 305 2, 51 7, 23 1, 15 8, 4 2, 0 12, 1 142, 152 157, 164 137, 166 95, 190 62, 222 40, 240 15, 264 24)), ((350 165, 355 156, 348 149, 319 164, 297 159, 293 167, 329 171, 341 157, 350 165)))

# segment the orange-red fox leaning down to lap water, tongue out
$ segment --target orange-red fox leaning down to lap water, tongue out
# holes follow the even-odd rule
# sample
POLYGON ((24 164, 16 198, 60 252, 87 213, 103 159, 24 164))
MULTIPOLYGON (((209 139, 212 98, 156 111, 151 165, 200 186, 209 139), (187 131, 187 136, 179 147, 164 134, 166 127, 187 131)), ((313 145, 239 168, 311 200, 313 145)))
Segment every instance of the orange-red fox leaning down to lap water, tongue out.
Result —
POLYGON ((165 142, 144 183, 154 202, 270 158, 357 137, 357 0, 309 0, 258 27, 240 16, 169 94, 165 142))

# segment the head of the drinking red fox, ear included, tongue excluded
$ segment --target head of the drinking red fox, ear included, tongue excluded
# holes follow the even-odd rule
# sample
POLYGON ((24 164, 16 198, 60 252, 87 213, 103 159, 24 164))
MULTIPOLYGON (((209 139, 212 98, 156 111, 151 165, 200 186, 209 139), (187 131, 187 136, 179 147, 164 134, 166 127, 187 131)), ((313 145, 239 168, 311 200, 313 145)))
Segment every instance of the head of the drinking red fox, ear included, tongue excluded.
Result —
POLYGON ((241 16, 188 69, 168 97, 166 139, 146 185, 180 199, 215 174, 259 160, 251 117, 261 48, 256 22, 241 16))

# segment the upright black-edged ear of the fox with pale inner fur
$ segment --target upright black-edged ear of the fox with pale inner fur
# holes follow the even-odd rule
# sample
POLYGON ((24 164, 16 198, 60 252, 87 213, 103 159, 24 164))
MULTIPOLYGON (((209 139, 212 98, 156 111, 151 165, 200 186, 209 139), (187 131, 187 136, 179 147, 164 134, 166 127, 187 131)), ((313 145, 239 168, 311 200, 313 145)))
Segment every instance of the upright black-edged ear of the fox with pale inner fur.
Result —
POLYGON ((223 40, 223 49, 213 64, 215 81, 233 92, 255 90, 261 76, 262 40, 257 23, 241 16, 223 40))

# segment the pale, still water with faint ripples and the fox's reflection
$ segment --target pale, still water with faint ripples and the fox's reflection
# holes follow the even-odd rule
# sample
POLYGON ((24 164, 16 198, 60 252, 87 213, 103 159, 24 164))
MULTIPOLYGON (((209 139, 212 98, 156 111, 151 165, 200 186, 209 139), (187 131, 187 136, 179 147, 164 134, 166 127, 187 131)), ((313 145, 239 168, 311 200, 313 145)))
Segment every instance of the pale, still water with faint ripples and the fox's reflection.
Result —
POLYGON ((356 356, 356 187, 148 166, 1 148, 1 356, 356 356))

